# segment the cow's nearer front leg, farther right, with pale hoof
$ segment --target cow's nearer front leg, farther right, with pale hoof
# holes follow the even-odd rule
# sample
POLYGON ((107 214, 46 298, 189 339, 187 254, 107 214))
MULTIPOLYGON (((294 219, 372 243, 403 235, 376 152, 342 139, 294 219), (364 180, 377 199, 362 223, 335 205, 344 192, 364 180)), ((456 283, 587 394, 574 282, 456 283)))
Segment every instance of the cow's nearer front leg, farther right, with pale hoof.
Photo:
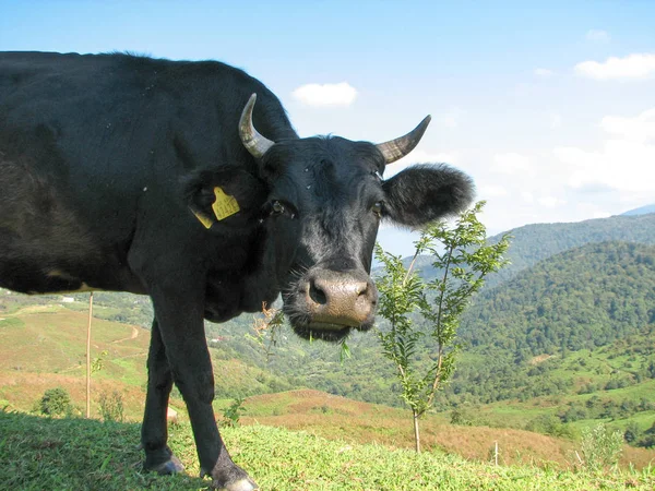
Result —
POLYGON ((230 458, 214 418, 214 373, 203 325, 204 285, 195 289, 179 282, 177 286, 175 291, 154 287, 151 297, 172 380, 187 403, 201 476, 210 475, 219 489, 252 491, 257 484, 230 458))

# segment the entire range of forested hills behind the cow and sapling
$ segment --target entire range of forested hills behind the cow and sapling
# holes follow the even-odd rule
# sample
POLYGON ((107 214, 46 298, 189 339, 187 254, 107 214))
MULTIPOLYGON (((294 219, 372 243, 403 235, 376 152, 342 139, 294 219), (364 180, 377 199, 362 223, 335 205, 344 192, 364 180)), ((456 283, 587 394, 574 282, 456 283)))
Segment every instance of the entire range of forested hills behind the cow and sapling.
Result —
MULTIPOLYGON (((577 393, 585 384, 603 388, 612 378, 622 385, 648 379, 655 337, 655 253, 654 246, 647 244, 655 243, 655 214, 531 225, 512 230, 512 235, 513 264, 504 272, 505 282, 501 284, 500 275, 491 276, 490 286, 474 299, 464 318, 457 371, 441 397, 441 407, 577 393), (623 242, 616 242, 618 239, 623 242), (635 345, 642 351, 627 355, 635 345), (630 369, 615 367, 611 370, 620 373, 614 374, 598 369, 603 373, 585 375, 584 382, 581 373, 572 373, 577 364, 570 364, 577 363, 582 354, 590 359, 599 357, 607 367, 611 366, 608 357, 634 359, 630 369)), ((421 266, 428 276, 434 273, 425 261, 421 266)), ((72 297, 79 301, 62 304, 86 309, 87 294, 72 297)), ((0 314, 63 300, 62 296, 4 292, 0 314)), ((97 292, 94 302, 97 316, 146 327, 152 322, 146 297, 97 292)), ((347 340, 350 357, 344 358, 338 345, 305 342, 288 327, 277 332, 269 346, 270 340, 257 338, 257 316, 206 323, 218 362, 238 360, 243 367, 259 369, 251 371, 258 373, 251 384, 246 380, 228 384, 218 368, 219 397, 305 386, 367 402, 402 404, 393 368, 381 357, 374 334, 353 335, 347 340)), ((430 352, 426 346, 419 356, 429 357, 430 352)))

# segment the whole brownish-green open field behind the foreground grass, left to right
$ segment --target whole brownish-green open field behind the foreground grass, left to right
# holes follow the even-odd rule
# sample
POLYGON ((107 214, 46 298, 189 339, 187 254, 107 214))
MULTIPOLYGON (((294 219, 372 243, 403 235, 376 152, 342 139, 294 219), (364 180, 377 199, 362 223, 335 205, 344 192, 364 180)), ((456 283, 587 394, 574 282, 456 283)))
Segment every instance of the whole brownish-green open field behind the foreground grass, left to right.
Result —
MULTIPOLYGON (((61 386, 69 392, 79 409, 76 414, 81 415, 85 405, 86 314, 62 306, 37 304, 5 312, 1 319, 0 408, 8 406, 9 410, 29 411, 46 390, 61 386)), ((127 421, 140 421, 148 342, 150 332, 146 330, 94 320, 92 356, 103 358, 103 369, 93 375, 92 417, 99 418, 97 403, 100 394, 118 392, 123 400, 127 421)), ((215 360, 214 367, 217 387, 248 386, 258 383, 259 374, 265 375, 260 369, 238 360, 215 360)), ((626 387, 612 393, 618 395, 634 388, 626 387)), ((216 400, 218 418, 231 402, 216 400)), ((503 465, 535 464, 567 468, 573 458, 575 442, 522 430, 531 418, 556 414, 561 404, 561 398, 543 398, 476 408, 477 415, 489 422, 476 427, 451 426, 449 414, 428 415, 421 421, 422 444, 433 452, 487 460, 490 448, 498 442, 503 465)), ((184 419, 184 405, 177 391, 174 391, 171 406, 184 419)), ((402 409, 309 390, 249 397, 243 406, 242 422, 247 426, 311 431, 329 440, 342 439, 348 444, 413 447, 410 415, 402 409)), ((652 423, 651 415, 638 416, 642 417, 640 424, 644 428, 652 423)), ((654 459, 655 451, 627 446, 621 466, 629 468, 632 465, 641 469, 654 459)))

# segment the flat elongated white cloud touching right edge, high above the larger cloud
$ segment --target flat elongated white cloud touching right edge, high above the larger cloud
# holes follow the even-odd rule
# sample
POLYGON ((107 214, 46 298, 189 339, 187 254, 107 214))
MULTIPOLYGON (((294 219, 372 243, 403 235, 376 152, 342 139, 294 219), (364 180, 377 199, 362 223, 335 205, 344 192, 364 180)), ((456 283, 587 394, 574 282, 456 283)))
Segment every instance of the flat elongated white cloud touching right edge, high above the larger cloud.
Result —
POLYGON ((634 53, 624 58, 610 57, 605 62, 583 61, 575 72, 595 80, 639 80, 655 74, 655 53, 634 53))

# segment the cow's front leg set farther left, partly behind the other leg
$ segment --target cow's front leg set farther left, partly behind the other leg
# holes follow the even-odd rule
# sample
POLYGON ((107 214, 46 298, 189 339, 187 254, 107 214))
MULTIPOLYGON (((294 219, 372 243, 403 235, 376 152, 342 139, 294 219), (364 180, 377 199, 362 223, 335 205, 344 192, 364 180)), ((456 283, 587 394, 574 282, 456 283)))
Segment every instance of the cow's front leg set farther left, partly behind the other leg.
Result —
POLYGON ((155 319, 147 356, 147 395, 141 427, 141 444, 145 451, 143 467, 159 474, 176 474, 184 469, 182 463, 166 444, 168 440, 166 411, 171 386, 172 375, 168 367, 159 325, 155 319))

